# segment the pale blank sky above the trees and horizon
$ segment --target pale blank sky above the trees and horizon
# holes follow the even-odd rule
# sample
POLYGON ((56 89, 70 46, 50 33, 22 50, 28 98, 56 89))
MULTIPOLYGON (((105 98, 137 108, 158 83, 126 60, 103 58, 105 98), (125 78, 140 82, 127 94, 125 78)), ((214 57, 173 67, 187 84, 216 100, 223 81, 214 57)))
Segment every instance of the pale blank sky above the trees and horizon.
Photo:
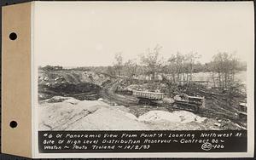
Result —
POLYGON ((38 65, 110 66, 114 54, 139 59, 162 46, 167 60, 177 51, 218 52, 242 61, 254 53, 253 3, 86 3, 36 2, 33 52, 38 65))

